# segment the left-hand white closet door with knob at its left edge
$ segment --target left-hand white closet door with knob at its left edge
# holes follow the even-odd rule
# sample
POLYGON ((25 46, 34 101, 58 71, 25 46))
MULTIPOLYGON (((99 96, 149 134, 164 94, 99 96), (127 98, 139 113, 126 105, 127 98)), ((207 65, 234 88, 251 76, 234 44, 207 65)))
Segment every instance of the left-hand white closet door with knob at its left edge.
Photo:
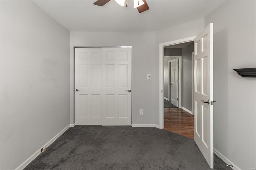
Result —
POLYGON ((102 125, 102 48, 75 48, 75 124, 102 125))

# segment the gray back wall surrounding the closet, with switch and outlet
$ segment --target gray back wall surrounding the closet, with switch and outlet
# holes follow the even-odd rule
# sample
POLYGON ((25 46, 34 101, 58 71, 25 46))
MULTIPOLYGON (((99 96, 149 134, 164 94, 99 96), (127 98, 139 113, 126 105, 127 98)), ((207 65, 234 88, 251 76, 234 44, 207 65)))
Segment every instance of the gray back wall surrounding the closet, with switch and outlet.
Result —
POLYGON ((70 32, 70 123, 74 123, 74 45, 132 46, 132 124, 154 124, 154 32, 70 32), (147 80, 151 74, 151 80, 147 80), (144 114, 139 115, 139 109, 144 114))

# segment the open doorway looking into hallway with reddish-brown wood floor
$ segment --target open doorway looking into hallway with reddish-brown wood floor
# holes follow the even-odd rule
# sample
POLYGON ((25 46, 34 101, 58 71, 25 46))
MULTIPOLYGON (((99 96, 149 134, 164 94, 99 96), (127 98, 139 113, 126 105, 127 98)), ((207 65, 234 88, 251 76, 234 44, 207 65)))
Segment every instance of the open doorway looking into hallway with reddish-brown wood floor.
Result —
POLYGON ((165 67, 168 65, 168 69, 170 70, 170 84, 168 84, 169 88, 166 88, 166 82, 164 82, 163 93, 165 104, 163 124, 164 129, 168 131, 194 139, 194 116, 192 115, 192 52, 194 52, 194 41, 176 43, 164 47, 163 76, 164 81, 168 79, 165 75, 165 67), (166 54, 169 58, 167 58, 166 54), (169 64, 166 64, 166 61, 169 64), (176 73, 178 73, 177 76, 175 76, 176 73), (176 107, 168 108, 166 107, 166 102, 171 102, 176 107))

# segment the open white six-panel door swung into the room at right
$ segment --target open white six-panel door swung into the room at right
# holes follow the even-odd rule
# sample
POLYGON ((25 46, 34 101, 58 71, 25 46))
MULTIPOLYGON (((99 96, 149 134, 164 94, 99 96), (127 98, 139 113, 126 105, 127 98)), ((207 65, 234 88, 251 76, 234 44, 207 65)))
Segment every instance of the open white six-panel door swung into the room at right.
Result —
POLYGON ((194 140, 213 168, 213 23, 194 39, 194 140))

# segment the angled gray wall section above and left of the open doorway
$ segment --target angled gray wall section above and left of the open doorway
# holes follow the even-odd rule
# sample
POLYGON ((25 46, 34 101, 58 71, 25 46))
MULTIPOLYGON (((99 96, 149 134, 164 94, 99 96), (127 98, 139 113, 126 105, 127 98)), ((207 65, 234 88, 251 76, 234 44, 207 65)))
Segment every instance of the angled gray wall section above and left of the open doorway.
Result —
MULTIPOLYGON (((187 37, 192 37, 198 35, 204 29, 204 18, 190 21, 181 25, 177 25, 175 27, 171 27, 168 29, 158 30, 156 31, 156 42, 155 42, 155 123, 159 125, 159 92, 162 89, 159 89, 159 44, 165 43, 169 41, 174 41, 177 39, 183 39, 187 37)), ((162 98, 162 94, 161 98, 162 98)))

